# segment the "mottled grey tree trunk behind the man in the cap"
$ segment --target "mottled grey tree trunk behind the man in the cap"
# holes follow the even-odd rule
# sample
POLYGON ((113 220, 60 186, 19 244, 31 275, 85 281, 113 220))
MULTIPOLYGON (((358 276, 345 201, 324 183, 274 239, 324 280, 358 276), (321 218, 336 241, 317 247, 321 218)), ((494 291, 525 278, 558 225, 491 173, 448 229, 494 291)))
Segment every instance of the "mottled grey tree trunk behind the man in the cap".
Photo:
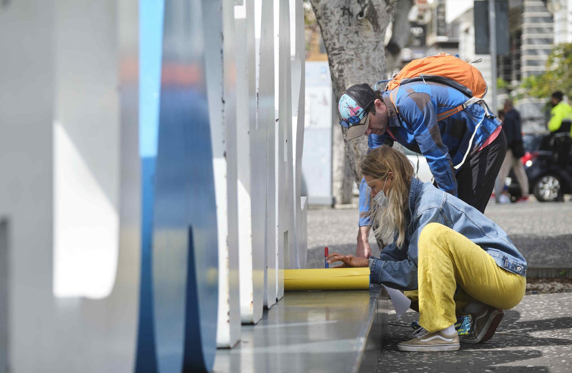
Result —
MULTIPOLYGON (((337 109, 337 101, 345 88, 358 83, 372 85, 386 78, 384 35, 398 0, 310 0, 310 2, 328 53, 335 96, 333 103, 337 109)), ((346 130, 341 126, 337 128, 339 129, 335 128, 334 131, 342 131, 345 140, 346 130)), ((351 176, 359 185, 362 177, 358 175, 358 163, 367 153, 367 137, 362 136, 347 141, 345 145, 342 144, 343 141, 335 141, 335 138, 336 136, 332 145, 333 160, 339 159, 345 148, 351 176)), ((341 167, 341 164, 343 163, 337 167, 341 167)), ((341 175, 347 173, 343 172, 341 175)), ((342 176, 341 179, 345 177, 342 176)), ((342 183, 339 181, 336 183, 335 180, 335 189, 341 187, 344 190, 343 180, 342 183)), ((347 184, 345 188, 347 193, 347 184)), ((351 192, 351 183, 349 188, 351 192)), ((334 195, 336 194, 335 190, 334 195)), ((339 194, 343 196, 343 193, 339 194)), ((347 198, 336 202, 345 202, 344 199, 347 198)))

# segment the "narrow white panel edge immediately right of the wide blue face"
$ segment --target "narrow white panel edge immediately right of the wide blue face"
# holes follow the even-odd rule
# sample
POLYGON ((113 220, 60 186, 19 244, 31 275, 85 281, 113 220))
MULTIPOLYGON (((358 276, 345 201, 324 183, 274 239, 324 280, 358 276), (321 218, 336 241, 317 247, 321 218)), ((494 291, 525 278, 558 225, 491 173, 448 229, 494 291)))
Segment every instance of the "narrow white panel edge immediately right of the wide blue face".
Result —
MULTIPOLYGON (((222 0, 204 0, 202 11, 205 19, 206 88, 209 100, 210 136, 212 138, 213 172, 215 174, 215 195, 217 201, 217 234, 219 235, 219 311, 217 318, 217 347, 233 347, 240 340, 240 306, 238 282, 231 283, 230 269, 236 278, 238 263, 229 263, 228 213, 227 213, 227 159, 225 153, 226 127, 224 121, 224 71, 223 17, 220 13, 222 0), (232 289, 232 291, 231 291, 232 289)), ((232 53, 225 55, 228 67, 232 67, 232 53)), ((232 84, 230 75, 226 75, 232 84)), ((233 86, 232 86, 233 87, 233 86)), ((228 87, 228 90, 232 90, 228 87)))

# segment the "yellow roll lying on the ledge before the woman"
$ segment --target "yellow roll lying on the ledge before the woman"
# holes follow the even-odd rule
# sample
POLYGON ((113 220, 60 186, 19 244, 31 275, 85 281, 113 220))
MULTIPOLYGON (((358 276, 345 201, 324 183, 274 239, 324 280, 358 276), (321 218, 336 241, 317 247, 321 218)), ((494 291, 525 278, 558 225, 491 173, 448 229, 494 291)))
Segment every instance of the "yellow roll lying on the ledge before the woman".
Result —
POLYGON ((284 291, 368 289, 369 267, 284 270, 284 291))

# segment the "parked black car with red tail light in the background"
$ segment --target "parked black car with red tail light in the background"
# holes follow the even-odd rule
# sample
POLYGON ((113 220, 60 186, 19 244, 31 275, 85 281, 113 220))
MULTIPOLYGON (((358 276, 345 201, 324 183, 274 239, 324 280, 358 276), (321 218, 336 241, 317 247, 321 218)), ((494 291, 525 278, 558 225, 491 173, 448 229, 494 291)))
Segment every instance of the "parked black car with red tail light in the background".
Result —
MULTIPOLYGON (((565 158, 559 151, 558 138, 550 133, 530 133, 523 136, 525 156, 521 158, 529 178, 530 193, 538 201, 563 201, 564 194, 572 193, 572 152, 565 158)), ((514 172, 509 177, 509 194, 511 201, 518 200, 521 189, 518 187, 514 172)))

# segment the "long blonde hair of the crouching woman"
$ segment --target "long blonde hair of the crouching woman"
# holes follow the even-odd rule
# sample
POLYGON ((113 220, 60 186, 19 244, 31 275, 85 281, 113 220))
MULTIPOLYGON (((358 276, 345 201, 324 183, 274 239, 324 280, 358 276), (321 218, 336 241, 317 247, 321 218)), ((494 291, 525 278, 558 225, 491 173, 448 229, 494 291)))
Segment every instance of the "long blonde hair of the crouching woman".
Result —
POLYGON ((400 247, 405 241, 405 212, 409 208, 409 185, 413 177, 413 165, 399 151, 382 145, 372 150, 362 161, 360 172, 374 180, 386 180, 390 172, 394 173, 391 190, 387 193, 388 207, 380 209, 378 202, 370 201, 371 223, 378 222, 374 230, 376 237, 393 237, 398 233, 395 244, 400 247))

